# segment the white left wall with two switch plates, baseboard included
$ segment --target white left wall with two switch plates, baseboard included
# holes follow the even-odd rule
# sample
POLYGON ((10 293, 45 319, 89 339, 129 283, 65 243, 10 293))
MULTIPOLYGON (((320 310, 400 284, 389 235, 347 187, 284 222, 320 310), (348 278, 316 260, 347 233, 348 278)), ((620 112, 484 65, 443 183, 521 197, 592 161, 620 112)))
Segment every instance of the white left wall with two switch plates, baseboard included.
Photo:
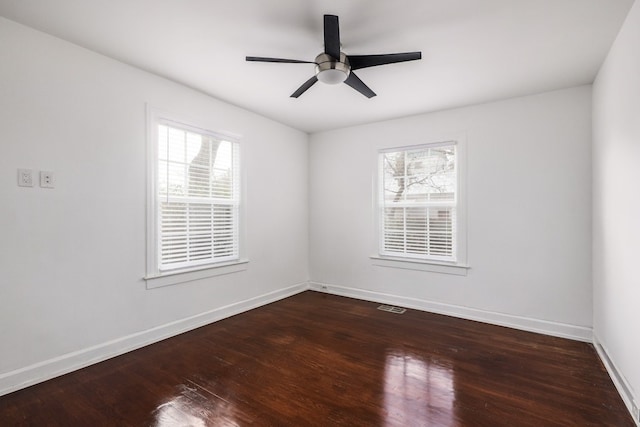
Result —
POLYGON ((304 289, 305 133, 3 18, 0 63, 0 394, 304 289), (147 102, 242 136, 247 271, 145 289, 147 102))

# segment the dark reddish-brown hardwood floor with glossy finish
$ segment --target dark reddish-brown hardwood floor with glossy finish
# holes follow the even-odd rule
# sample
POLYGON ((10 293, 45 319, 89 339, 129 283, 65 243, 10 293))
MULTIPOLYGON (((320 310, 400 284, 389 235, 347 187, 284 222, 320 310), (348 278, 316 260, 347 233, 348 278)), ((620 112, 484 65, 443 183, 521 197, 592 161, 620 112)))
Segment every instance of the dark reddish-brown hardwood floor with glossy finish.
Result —
POLYGON ((0 397, 2 426, 633 426, 589 344, 304 292, 0 397))

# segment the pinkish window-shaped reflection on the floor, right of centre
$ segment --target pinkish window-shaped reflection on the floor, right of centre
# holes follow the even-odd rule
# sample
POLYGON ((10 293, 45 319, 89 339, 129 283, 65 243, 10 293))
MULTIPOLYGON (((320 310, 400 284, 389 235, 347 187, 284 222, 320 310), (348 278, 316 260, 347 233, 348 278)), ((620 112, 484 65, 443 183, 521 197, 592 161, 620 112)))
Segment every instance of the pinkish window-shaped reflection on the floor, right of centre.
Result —
POLYGON ((385 425, 454 426, 455 397, 451 368, 412 354, 387 355, 385 425))

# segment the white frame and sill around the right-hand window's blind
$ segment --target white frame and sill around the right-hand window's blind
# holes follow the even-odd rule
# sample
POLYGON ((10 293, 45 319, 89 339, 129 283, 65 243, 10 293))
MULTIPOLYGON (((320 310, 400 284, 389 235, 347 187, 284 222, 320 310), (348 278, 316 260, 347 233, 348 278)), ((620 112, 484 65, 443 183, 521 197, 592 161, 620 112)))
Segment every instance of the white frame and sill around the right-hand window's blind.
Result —
POLYGON ((373 179, 373 211, 374 211, 374 255, 372 259, 373 265, 381 267, 392 267, 400 269, 429 271, 436 273, 466 275, 470 268, 467 263, 467 209, 466 209, 466 181, 467 181, 467 147, 464 135, 456 135, 453 138, 432 139, 427 143, 416 143, 402 146, 389 146, 375 150, 375 167, 373 179), (436 259, 435 257, 422 258, 411 255, 403 256, 389 255, 382 251, 383 238, 383 218, 381 218, 383 206, 382 185, 382 164, 381 158, 384 153, 415 150, 425 147, 436 147, 445 144, 456 145, 456 173, 457 173, 457 189, 456 189, 456 235, 454 242, 454 261, 446 261, 436 259))

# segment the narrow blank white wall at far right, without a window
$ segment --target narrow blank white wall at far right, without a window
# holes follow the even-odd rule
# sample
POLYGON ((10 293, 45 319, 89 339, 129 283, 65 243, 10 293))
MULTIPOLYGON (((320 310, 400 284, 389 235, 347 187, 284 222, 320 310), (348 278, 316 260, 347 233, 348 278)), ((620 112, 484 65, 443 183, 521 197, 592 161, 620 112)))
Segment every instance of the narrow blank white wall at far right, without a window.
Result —
POLYGON ((593 85, 594 335, 617 368, 627 403, 631 395, 640 399, 638 52, 636 2, 593 85))

